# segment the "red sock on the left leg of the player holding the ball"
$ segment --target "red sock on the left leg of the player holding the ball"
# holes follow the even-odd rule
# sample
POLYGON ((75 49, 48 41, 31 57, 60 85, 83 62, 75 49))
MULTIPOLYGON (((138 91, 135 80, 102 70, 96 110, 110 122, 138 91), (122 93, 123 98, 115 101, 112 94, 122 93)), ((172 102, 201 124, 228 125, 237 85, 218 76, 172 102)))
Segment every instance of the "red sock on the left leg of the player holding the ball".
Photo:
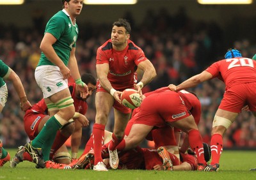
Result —
POLYGON ((93 137, 93 150, 94 150, 94 165, 97 165, 99 161, 102 161, 101 146, 104 143, 104 130, 105 125, 95 123, 93 125, 92 137, 93 137))

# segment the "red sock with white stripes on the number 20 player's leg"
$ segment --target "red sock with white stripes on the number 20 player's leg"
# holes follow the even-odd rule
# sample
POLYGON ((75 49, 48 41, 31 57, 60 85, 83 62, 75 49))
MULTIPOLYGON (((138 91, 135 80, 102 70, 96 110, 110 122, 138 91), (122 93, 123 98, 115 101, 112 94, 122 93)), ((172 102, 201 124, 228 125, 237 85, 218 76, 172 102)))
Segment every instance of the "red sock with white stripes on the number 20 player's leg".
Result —
POLYGON ((211 153, 212 153, 212 161, 211 165, 220 162, 220 155, 223 151, 223 139, 222 135, 214 134, 211 139, 211 153))

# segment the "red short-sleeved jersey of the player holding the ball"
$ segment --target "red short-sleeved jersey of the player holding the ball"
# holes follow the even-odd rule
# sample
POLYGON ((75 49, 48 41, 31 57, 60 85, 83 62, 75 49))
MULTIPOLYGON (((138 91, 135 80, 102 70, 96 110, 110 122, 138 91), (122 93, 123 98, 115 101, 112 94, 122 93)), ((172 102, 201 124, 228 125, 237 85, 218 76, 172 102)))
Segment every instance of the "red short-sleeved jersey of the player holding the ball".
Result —
POLYGON ((108 80, 115 89, 125 89, 137 82, 137 66, 147 60, 143 50, 131 40, 122 51, 113 49, 111 40, 106 41, 97 50, 96 64, 109 64, 108 80))

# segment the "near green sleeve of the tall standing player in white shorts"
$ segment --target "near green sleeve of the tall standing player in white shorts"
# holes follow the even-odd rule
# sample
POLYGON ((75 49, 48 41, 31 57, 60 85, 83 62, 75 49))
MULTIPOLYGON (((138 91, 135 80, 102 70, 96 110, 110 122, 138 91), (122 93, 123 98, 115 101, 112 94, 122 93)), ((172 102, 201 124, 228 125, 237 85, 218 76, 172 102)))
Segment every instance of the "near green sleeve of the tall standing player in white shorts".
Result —
POLYGON ((53 17, 49 20, 45 33, 51 33, 57 40, 65 30, 65 20, 62 17, 53 17))

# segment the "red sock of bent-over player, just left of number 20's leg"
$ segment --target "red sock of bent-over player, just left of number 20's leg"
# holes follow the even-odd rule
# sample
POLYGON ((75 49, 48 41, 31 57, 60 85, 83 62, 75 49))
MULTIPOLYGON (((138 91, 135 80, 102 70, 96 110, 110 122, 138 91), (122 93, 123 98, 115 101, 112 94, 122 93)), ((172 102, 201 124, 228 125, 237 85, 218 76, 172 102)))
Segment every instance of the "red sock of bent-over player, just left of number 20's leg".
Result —
POLYGON ((204 146, 202 136, 200 135, 198 130, 190 130, 188 132, 189 145, 196 153, 196 157, 198 163, 206 165, 206 161, 204 160, 204 146))

